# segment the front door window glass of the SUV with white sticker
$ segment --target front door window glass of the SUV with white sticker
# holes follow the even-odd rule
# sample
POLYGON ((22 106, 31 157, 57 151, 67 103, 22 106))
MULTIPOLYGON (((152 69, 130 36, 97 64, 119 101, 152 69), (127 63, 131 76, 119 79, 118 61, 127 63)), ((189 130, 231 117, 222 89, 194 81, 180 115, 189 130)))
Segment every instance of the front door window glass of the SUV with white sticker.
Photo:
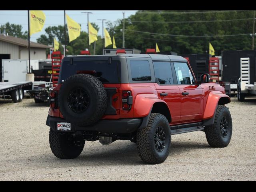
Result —
POLYGON ((178 84, 194 84, 194 78, 187 63, 174 62, 178 84))

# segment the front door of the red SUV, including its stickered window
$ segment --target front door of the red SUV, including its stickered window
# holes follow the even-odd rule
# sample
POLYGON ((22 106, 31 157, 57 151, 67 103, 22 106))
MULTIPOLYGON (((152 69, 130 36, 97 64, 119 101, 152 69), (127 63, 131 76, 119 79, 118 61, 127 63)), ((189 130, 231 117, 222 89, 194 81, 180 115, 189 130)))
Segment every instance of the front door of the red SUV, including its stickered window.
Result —
POLYGON ((181 114, 180 122, 195 122, 203 116, 203 91, 195 84, 192 72, 185 62, 174 62, 176 82, 180 89, 181 114))

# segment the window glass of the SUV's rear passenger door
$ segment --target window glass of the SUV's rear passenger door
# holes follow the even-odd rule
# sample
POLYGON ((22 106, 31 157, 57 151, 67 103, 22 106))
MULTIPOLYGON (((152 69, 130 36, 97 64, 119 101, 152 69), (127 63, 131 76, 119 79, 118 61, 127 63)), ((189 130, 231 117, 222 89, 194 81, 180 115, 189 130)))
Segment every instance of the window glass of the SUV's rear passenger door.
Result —
POLYGON ((156 82, 158 84, 173 84, 172 70, 170 62, 154 62, 156 82))

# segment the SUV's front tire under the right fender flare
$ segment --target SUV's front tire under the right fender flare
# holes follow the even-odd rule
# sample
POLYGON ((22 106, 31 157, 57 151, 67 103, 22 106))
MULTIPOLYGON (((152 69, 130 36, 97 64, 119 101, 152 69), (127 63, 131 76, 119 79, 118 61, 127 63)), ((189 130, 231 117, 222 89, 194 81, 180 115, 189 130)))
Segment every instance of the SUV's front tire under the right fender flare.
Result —
POLYGON ((214 124, 211 126, 205 127, 205 135, 208 144, 211 147, 226 147, 230 143, 232 136, 232 118, 231 114, 226 106, 218 105, 215 113, 214 124), (221 134, 221 121, 222 117, 225 117, 228 125, 227 125, 227 135, 223 137, 221 134))

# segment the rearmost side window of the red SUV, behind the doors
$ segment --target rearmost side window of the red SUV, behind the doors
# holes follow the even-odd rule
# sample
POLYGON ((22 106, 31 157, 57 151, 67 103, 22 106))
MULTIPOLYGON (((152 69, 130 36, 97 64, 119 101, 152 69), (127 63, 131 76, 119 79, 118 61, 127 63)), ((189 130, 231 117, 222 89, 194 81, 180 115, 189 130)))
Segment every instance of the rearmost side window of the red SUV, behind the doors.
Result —
POLYGON ((150 65, 147 60, 131 60, 130 66, 133 81, 151 81, 150 65))

